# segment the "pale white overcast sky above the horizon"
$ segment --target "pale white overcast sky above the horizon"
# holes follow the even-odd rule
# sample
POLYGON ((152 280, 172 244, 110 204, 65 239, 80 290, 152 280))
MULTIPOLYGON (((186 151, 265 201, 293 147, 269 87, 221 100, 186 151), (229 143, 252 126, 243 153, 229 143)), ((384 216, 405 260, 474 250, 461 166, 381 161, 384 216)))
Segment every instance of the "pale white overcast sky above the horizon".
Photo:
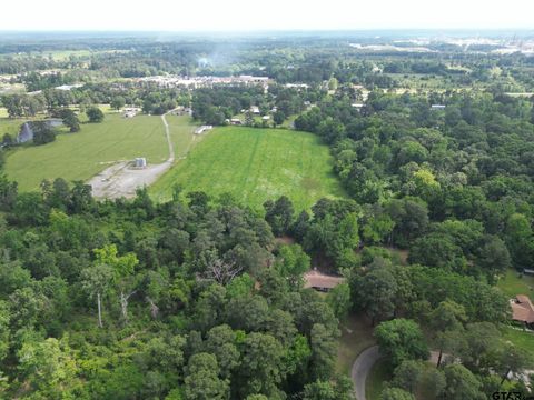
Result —
POLYGON ((528 29, 534 0, 20 0, 0 30, 528 29))

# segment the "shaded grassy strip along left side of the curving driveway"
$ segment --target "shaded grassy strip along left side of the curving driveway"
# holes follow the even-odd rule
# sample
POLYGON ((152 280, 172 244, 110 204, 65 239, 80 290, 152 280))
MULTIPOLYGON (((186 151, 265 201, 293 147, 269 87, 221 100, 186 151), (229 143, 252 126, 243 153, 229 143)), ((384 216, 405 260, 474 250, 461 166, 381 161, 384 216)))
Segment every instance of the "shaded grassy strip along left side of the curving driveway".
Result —
POLYGON ((373 327, 370 320, 363 313, 349 314, 339 323, 342 337, 337 350, 336 371, 350 376, 356 358, 362 351, 374 346, 373 327))

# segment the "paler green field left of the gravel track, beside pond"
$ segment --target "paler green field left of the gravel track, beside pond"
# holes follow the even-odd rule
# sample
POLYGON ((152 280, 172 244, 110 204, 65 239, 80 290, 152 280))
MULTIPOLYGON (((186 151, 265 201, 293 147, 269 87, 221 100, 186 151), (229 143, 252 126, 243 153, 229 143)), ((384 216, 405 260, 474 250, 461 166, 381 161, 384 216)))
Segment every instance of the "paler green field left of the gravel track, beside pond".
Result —
POLYGON ((52 143, 10 150, 6 172, 21 191, 39 188, 43 179, 88 180, 121 160, 146 157, 149 163, 168 158, 160 117, 125 119, 108 113, 102 123, 83 123, 81 131, 58 134, 52 143))

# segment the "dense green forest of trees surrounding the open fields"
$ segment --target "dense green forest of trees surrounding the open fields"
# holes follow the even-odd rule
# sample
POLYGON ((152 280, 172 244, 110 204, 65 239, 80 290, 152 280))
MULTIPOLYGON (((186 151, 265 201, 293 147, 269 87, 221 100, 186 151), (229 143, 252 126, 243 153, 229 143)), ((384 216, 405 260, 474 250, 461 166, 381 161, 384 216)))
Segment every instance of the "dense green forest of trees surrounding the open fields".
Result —
POLYGON ((287 134, 317 134, 346 197, 298 210, 281 196, 253 209, 176 186, 162 203, 146 188, 97 201, 81 181, 19 192, 2 176, 2 397, 348 400, 353 382, 336 359, 349 314, 366 316, 390 363, 384 400, 532 394, 527 380, 510 379, 534 360, 503 333, 511 307, 496 283, 534 264, 534 97, 508 92, 532 90, 533 57, 437 44, 435 54, 378 57, 303 40, 248 42, 199 64, 214 43, 122 44, 66 60, 0 58, 0 73, 40 91, 4 94, 3 107, 76 128, 67 107, 184 106, 197 122, 244 114, 259 128, 255 106, 287 134), (34 73, 52 68, 62 72, 34 73), (191 91, 111 79, 164 72, 271 82, 191 91), (411 74, 442 87, 403 90, 411 74), (85 84, 55 89, 75 82, 85 84), (305 289, 312 268, 345 282, 305 289))

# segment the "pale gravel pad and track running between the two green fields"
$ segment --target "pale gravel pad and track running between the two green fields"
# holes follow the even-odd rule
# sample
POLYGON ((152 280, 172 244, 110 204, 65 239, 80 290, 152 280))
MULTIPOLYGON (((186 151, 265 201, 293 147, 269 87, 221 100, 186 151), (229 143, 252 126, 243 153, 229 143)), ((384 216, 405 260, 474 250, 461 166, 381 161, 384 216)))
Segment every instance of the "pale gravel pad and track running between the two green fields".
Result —
POLYGON ((88 183, 92 187, 93 197, 100 199, 132 198, 136 196, 137 188, 150 186, 172 167, 175 149, 166 114, 161 116, 161 122, 165 127, 165 136, 169 147, 167 161, 146 168, 135 168, 129 161, 119 161, 89 180, 88 183))

